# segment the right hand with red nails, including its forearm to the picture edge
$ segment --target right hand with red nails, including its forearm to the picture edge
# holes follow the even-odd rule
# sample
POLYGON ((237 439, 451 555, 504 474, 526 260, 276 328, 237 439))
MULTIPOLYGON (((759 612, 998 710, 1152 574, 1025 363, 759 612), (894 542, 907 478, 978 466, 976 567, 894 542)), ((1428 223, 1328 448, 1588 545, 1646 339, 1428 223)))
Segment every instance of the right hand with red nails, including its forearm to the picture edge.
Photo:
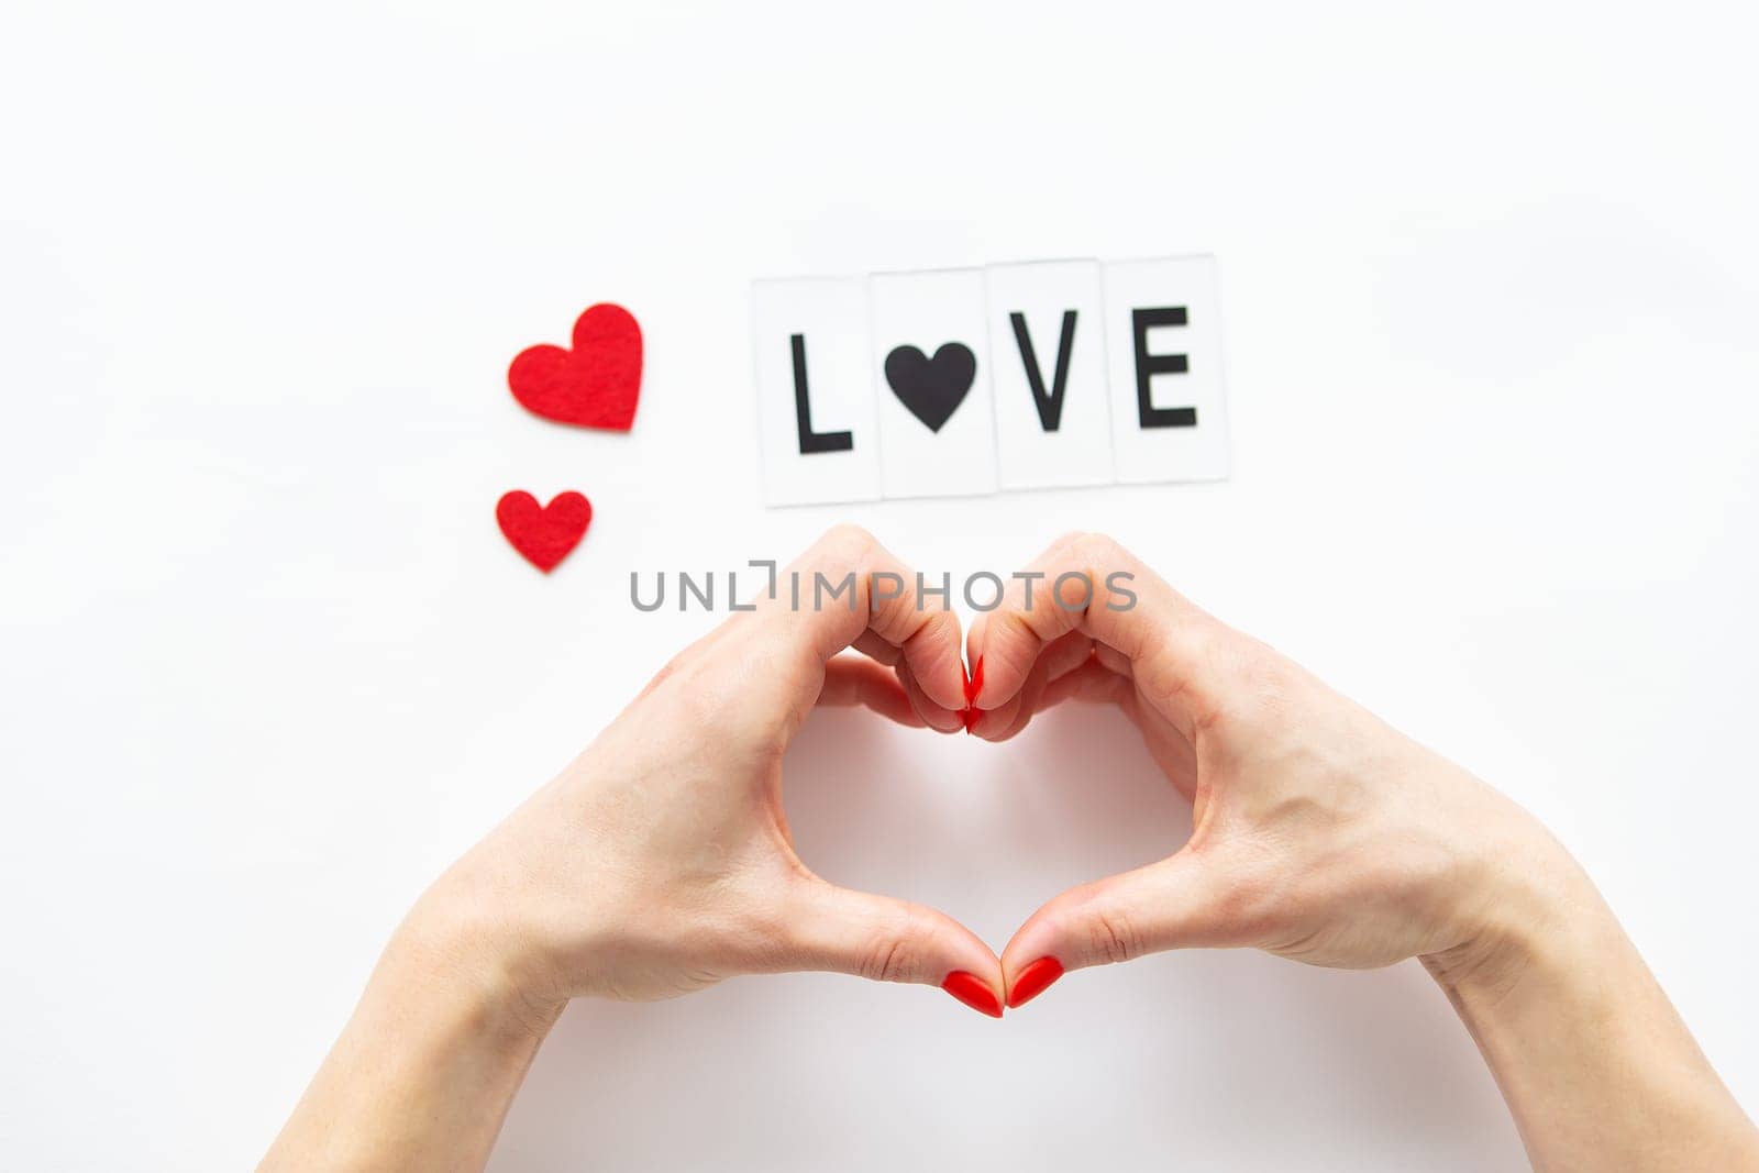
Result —
POLYGON ((1759 1169, 1759 1133, 1536 820, 1108 538, 1068 536, 1033 572, 971 630, 971 732, 1011 737, 1066 698, 1117 703, 1193 802, 1193 832, 1038 909, 1003 950, 1010 1006, 1064 967, 1184 946, 1421 957, 1534 1168, 1759 1169))

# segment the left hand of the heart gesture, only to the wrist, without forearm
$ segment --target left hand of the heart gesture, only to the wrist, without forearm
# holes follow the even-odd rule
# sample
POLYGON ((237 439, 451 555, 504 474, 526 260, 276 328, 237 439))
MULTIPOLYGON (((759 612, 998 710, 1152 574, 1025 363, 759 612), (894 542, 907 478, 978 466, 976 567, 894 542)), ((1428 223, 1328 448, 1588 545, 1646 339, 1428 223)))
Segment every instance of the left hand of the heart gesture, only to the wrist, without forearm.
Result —
POLYGON ((957 617, 920 607, 915 572, 853 528, 825 535, 779 582, 779 598, 667 665, 415 918, 459 925, 538 1008, 825 969, 946 985, 999 1015, 989 946, 932 909, 820 879, 783 812, 783 751, 814 703, 962 726, 957 617), (827 591, 853 579, 853 594, 816 600, 818 575, 827 591), (851 645, 865 656, 837 656, 851 645))

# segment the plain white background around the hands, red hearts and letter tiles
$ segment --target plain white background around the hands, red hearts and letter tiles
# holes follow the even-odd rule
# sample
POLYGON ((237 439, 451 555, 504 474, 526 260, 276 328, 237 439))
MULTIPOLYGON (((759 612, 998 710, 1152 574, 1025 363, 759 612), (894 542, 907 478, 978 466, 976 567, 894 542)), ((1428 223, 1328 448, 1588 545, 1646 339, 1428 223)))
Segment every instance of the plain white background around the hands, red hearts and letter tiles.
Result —
MULTIPOLYGON (((1759 1106, 1747 5, 7 5, 0 1152, 245 1168, 450 858, 853 519, 1108 529, 1581 856, 1759 1106), (1233 478, 763 510, 755 276, 1214 251, 1233 478), (505 387, 593 301, 630 436, 505 387), (494 528, 580 489, 545 579, 494 528)), ((1750 7, 1748 7, 1750 11, 1750 7)), ((1187 818, 1120 719, 816 719, 802 853, 999 946, 1187 818)), ((1414 964, 579 1004, 498 1169, 1506 1169, 1414 964)))

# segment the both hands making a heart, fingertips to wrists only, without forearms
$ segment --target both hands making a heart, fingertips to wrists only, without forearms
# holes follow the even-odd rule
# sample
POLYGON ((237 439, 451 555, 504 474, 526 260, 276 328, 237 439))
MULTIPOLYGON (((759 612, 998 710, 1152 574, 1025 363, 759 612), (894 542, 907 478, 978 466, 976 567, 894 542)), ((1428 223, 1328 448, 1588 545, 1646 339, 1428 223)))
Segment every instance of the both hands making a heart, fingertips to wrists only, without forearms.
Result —
POLYGON ((777 591, 723 623, 436 885, 496 909, 475 932, 533 1004, 832 969, 939 985, 1001 1015, 1064 969, 1179 946, 1349 967, 1448 958, 1486 932, 1483 897, 1462 893, 1518 892, 1523 860, 1550 858, 1520 807, 1106 538, 1054 543, 964 649, 957 617, 858 529, 785 573, 853 577, 857 591, 848 608, 777 591), (1034 582, 1054 587, 1033 600, 1034 582), (839 654, 850 647, 862 654, 839 654), (1173 856, 1050 900, 1001 957, 943 913, 800 863, 783 753, 814 705, 1004 740, 1062 700, 1115 703, 1142 730, 1193 802, 1173 856))

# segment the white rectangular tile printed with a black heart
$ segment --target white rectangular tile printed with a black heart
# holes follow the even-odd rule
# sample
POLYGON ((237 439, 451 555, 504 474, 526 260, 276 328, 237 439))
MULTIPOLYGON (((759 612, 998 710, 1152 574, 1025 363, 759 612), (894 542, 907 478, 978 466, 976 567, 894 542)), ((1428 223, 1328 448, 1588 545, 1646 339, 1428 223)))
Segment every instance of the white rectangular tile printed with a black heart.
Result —
POLYGON ((883 496, 996 492, 996 406, 983 271, 876 273, 867 278, 867 311, 872 317, 883 496), (897 397, 885 364, 897 346, 915 346, 932 362, 948 343, 969 348, 976 371, 953 413, 939 431, 931 431, 897 397))

